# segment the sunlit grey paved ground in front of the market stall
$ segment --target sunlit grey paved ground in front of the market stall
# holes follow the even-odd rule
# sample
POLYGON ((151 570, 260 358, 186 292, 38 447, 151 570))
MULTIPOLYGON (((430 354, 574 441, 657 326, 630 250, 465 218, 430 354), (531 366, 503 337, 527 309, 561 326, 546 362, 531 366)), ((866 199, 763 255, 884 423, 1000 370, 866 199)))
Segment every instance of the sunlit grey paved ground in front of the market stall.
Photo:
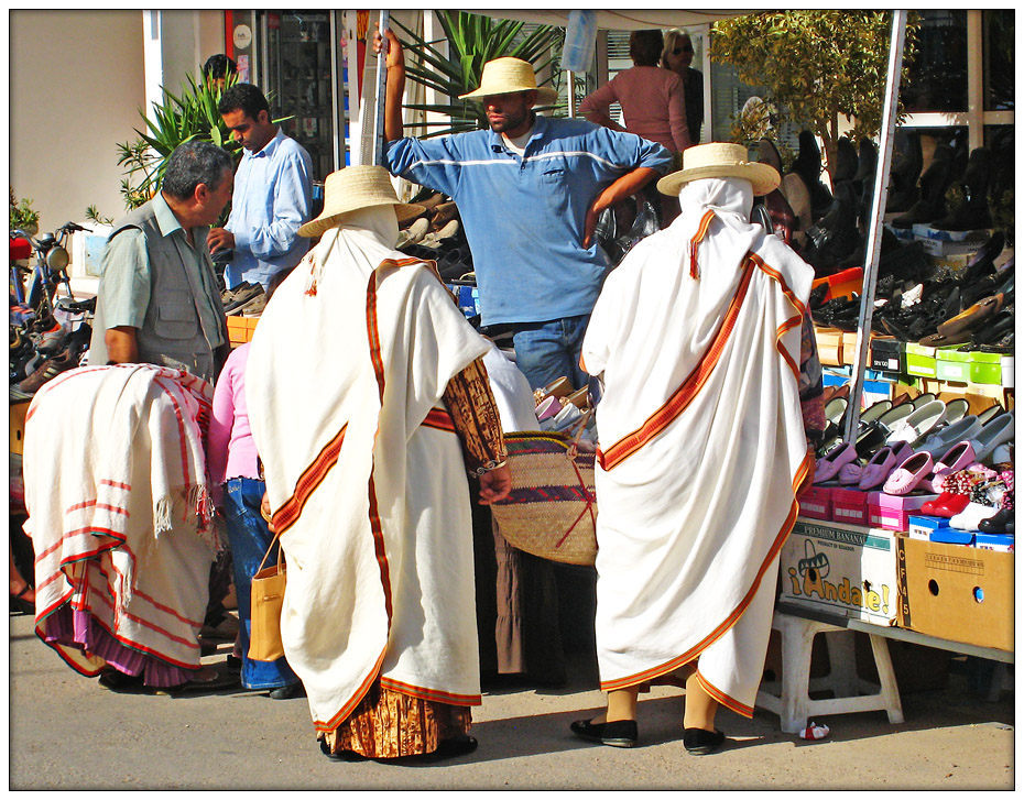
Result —
MULTIPOLYGON (((207 662, 222 661, 221 653, 207 662)), ((506 686, 473 712, 472 755, 432 766, 324 758, 305 699, 261 693, 115 694, 73 672, 10 617, 10 789, 1011 789, 1014 694, 990 703, 951 675, 903 698, 906 722, 883 712, 836 715, 831 734, 804 742, 773 714, 728 712, 727 747, 707 757, 680 742, 680 692, 640 705, 638 747, 589 745, 568 730, 597 713, 590 660, 557 690, 506 686)))

